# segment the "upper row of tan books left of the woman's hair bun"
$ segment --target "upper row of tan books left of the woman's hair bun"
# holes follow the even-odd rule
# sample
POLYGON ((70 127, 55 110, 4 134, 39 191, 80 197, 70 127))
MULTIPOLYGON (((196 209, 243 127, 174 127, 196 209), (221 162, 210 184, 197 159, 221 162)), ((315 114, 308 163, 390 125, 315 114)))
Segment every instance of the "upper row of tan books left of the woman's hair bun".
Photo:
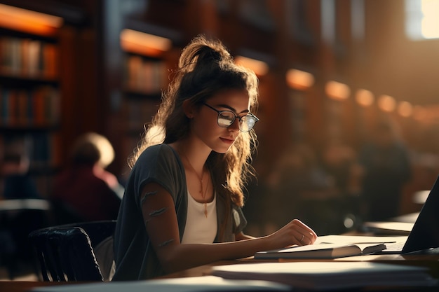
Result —
POLYGON ((160 93, 168 85, 168 70, 161 60, 127 55, 124 67, 127 90, 151 95, 160 93))

